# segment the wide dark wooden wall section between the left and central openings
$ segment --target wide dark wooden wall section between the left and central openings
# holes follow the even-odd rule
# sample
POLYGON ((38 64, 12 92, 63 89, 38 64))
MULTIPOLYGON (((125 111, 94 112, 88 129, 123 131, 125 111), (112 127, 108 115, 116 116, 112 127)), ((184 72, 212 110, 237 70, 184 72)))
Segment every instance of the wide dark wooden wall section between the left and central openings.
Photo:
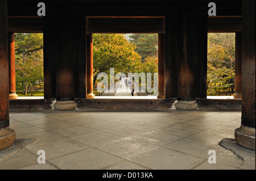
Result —
MULTIPOLYGON (((50 12, 56 11, 53 9, 50 12)), ((44 99, 63 96, 71 97, 69 99, 86 98, 86 20, 73 16, 56 18, 57 15, 50 12, 44 16, 44 99), (60 78, 66 70, 69 74, 60 78), (62 81, 69 81, 71 85, 63 90, 61 86, 65 83, 62 81)))

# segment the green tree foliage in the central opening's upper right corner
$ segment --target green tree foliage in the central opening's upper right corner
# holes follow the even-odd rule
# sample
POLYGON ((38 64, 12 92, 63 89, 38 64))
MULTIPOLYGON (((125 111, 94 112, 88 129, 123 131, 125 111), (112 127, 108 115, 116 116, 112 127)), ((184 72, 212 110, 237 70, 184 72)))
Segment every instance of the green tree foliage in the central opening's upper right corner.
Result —
POLYGON ((157 33, 136 33, 130 35, 131 42, 135 43, 135 49, 142 56, 142 62, 145 58, 158 56, 158 34, 157 33))

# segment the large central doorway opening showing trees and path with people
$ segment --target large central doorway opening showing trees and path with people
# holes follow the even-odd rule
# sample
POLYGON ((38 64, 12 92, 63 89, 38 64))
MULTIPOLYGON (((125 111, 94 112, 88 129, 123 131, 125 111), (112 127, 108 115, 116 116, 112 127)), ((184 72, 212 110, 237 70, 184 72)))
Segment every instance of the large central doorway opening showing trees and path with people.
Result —
POLYGON ((94 33, 93 92, 100 99, 157 99, 158 33, 94 33))

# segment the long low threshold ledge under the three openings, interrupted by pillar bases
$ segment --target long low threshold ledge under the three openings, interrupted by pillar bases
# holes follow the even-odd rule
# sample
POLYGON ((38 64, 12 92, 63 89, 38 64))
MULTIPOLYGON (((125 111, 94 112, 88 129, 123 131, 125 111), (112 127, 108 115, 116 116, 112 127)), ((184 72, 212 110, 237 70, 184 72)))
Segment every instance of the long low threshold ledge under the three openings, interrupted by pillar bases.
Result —
MULTIPOLYGON (((106 94, 106 93, 104 93, 106 94)), ((56 99, 16 99, 10 100, 10 110, 53 110, 56 99)), ((177 99, 75 99, 77 108, 92 109, 133 109, 133 110, 173 110, 177 99)), ((241 111, 242 99, 197 99, 197 110, 241 111)))

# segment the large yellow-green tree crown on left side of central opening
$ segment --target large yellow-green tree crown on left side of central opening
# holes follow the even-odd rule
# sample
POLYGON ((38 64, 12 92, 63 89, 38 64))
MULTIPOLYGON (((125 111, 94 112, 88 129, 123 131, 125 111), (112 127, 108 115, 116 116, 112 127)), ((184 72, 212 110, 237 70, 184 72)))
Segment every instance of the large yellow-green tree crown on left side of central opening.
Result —
POLYGON ((93 85, 97 74, 109 74, 110 68, 115 69, 115 74, 136 71, 141 64, 141 56, 135 48, 136 45, 129 43, 123 34, 93 34, 93 85))

